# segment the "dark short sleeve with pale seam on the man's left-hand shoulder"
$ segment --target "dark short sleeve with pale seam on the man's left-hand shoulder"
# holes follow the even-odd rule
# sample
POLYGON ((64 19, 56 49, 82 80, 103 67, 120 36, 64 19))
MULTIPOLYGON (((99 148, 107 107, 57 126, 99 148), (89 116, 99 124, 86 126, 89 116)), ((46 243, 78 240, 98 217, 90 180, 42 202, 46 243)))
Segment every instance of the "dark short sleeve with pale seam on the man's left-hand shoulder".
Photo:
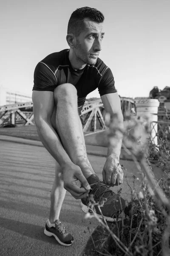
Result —
POLYGON ((34 70, 34 87, 32 90, 51 91, 57 86, 57 78, 53 71, 42 62, 39 62, 34 70))

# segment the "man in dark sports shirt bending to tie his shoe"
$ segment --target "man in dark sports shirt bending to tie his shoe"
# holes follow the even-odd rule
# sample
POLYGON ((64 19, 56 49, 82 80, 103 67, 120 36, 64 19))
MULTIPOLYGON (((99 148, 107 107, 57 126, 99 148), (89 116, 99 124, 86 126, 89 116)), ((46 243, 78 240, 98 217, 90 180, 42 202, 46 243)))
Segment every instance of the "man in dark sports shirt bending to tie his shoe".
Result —
MULTIPOLYGON (((107 198, 101 210, 108 221, 115 221, 116 214, 125 207, 125 201, 117 200, 109 189, 123 182, 119 166, 122 138, 117 138, 114 148, 108 148, 102 182, 88 160, 79 118, 86 96, 98 87, 105 111, 117 114, 120 125, 123 122, 113 75, 98 58, 104 37, 103 21, 104 16, 96 9, 83 7, 74 11, 66 37, 70 49, 48 55, 34 72, 34 121, 43 145, 56 160, 51 209, 44 233, 67 246, 72 244, 73 236, 59 221, 66 190, 82 200, 84 212, 89 210, 90 195, 98 202, 107 198)), ((103 218, 97 207, 96 213, 103 218)))

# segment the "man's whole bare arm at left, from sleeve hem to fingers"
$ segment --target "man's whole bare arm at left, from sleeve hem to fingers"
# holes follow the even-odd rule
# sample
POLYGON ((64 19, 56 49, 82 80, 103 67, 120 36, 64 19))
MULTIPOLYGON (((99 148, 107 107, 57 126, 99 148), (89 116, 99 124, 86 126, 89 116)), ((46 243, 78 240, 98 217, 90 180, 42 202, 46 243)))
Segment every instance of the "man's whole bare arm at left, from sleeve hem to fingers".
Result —
POLYGON ((42 144, 60 164, 63 172, 64 188, 76 199, 87 196, 90 186, 79 166, 72 163, 65 152, 59 137, 51 125, 54 109, 54 94, 48 91, 33 91, 32 93, 34 121, 42 144), (83 187, 77 185, 77 180, 83 187))

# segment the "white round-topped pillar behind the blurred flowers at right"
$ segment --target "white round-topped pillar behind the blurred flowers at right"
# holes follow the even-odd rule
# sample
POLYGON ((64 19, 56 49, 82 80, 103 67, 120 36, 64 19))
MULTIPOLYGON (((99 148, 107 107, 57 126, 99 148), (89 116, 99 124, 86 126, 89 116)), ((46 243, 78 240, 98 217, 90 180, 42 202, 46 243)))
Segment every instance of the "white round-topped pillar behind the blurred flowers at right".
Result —
POLYGON ((136 116, 142 116, 144 114, 151 114, 150 122, 152 124, 152 131, 151 131, 151 138, 155 145, 158 145, 158 107, 159 107, 159 100, 158 99, 146 99, 146 98, 138 98, 135 99, 136 105, 136 116), (153 129, 154 127, 154 129, 153 129))

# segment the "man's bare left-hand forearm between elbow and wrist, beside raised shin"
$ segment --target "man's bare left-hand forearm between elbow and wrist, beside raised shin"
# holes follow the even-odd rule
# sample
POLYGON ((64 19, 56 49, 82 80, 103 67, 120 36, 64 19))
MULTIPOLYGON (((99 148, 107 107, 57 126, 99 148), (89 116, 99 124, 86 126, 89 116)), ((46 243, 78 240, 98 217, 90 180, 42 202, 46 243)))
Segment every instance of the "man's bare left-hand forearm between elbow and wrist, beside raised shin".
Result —
POLYGON ((65 152, 52 125, 42 119, 36 122, 36 127, 42 144, 59 165, 63 166, 65 163, 71 163, 70 157, 65 152))

